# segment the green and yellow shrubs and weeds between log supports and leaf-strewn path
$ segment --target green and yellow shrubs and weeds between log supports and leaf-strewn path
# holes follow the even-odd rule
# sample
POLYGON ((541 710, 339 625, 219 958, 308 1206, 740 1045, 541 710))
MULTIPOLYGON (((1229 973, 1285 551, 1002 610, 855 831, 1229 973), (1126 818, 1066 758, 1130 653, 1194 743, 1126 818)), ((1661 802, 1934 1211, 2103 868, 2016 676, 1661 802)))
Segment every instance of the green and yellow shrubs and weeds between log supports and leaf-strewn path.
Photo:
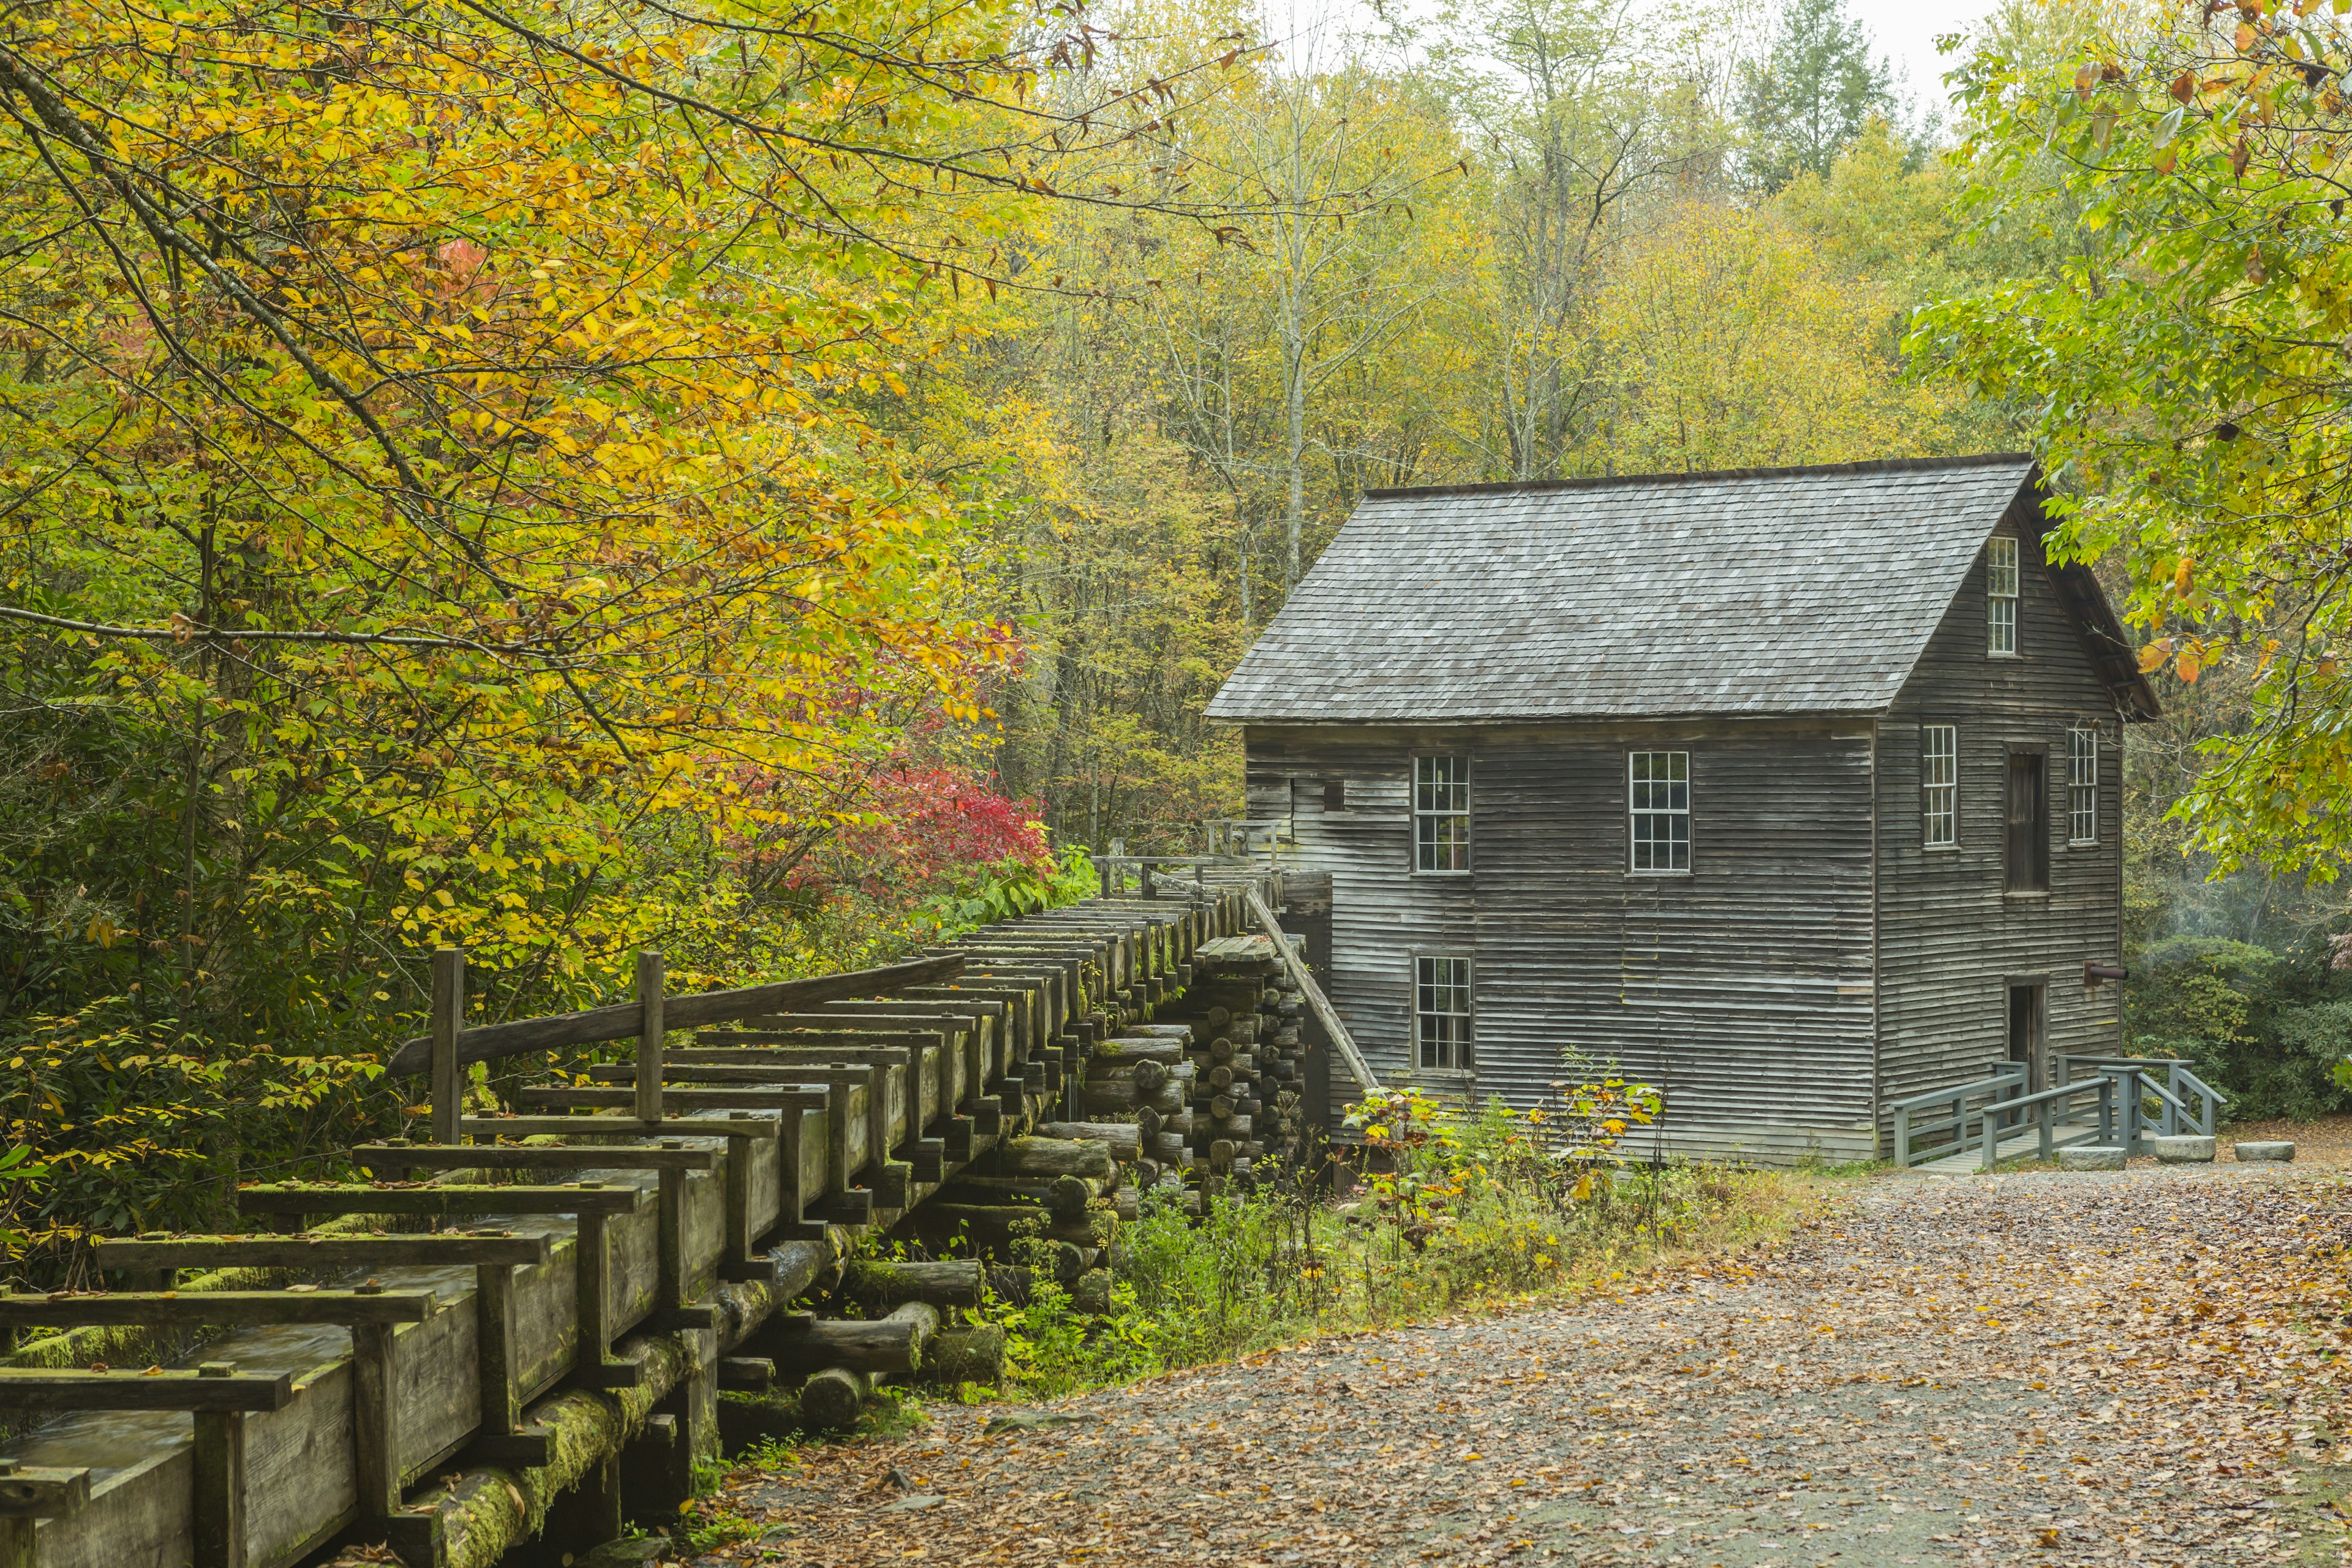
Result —
POLYGON ((993 1307, 1009 1375, 1054 1396, 1310 1333, 1606 1286, 1646 1258, 1776 1220, 1785 1175, 1623 1157, 1656 1114, 1658 1095, 1623 1081, 1569 1086, 1536 1112, 1501 1100, 1446 1112, 1416 1091, 1369 1100, 1350 1114, 1376 1164, 1362 1192, 1319 1192, 1312 1161, 1254 1192, 1207 1194, 1197 1218, 1178 1192, 1145 1192, 1120 1227, 1108 1314, 1080 1314, 1047 1286, 993 1307))

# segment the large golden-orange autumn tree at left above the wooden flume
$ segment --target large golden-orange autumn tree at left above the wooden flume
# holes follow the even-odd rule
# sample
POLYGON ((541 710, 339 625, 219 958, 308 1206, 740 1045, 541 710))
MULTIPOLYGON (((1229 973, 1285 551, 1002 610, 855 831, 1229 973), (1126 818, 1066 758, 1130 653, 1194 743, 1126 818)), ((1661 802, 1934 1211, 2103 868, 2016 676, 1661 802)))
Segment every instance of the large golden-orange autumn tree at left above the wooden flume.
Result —
POLYGON ((1014 656, 896 425, 1056 160, 1150 136, 1127 85, 1037 106, 1089 38, 0 21, 0 987, 59 1204, 193 1218, 240 1147, 381 1114, 433 943, 543 1009, 640 943, 694 983, 889 940, 811 950, 809 853, 1014 656))

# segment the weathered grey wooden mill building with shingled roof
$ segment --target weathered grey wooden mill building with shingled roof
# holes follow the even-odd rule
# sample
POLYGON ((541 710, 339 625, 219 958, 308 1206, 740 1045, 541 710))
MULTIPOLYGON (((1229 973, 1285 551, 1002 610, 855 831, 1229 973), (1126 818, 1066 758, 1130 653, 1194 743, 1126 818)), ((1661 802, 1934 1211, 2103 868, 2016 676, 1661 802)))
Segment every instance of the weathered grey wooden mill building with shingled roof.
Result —
POLYGON ((1209 717, 1371 1067, 1529 1105, 1571 1053, 1672 1147, 1858 1159, 2117 1051, 2157 703, 2044 527, 2023 456, 1369 491, 1209 717))

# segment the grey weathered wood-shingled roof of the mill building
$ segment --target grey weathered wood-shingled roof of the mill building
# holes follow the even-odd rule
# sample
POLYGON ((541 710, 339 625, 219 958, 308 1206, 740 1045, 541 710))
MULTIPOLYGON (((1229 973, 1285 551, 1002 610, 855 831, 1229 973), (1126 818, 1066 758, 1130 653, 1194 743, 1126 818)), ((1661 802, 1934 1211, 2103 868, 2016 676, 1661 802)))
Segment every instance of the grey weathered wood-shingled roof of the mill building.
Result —
MULTIPOLYGON (((1994 454, 1367 491, 1209 717, 1877 712, 2032 477, 1994 454)), ((2098 583, 2065 576, 2138 708, 2098 583)))

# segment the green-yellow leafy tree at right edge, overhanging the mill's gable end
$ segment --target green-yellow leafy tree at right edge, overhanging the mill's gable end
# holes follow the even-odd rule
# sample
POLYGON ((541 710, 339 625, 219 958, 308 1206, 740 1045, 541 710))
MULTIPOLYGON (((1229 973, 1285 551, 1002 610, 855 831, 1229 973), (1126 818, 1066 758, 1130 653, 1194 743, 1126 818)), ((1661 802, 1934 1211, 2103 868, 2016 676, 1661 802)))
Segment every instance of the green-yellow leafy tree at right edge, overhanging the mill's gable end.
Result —
POLYGON ((2324 882, 2352 853, 2352 35, 2317 5, 2100 21, 2060 56, 1980 49, 1964 78, 1976 219, 2042 221, 2056 183, 2098 242, 1929 310, 1915 343, 2032 409, 2056 543, 2122 562, 2147 668, 2232 672, 2244 724, 2176 806, 2190 844, 2324 882))

